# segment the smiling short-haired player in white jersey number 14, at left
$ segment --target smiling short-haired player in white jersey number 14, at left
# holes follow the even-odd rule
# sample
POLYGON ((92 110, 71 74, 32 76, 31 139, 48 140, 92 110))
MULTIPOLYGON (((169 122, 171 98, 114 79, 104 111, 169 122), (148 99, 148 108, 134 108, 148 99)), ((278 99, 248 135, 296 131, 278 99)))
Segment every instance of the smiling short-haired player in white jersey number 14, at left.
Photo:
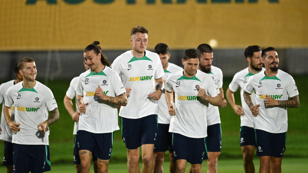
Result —
POLYGON ((36 81, 33 58, 18 62, 23 81, 11 86, 3 108, 6 124, 14 133, 14 173, 42 173, 50 171, 49 127, 59 119, 56 100, 51 90, 36 81), (11 107, 15 106, 15 121, 11 120, 11 107), (48 117, 48 111, 51 115, 48 117))

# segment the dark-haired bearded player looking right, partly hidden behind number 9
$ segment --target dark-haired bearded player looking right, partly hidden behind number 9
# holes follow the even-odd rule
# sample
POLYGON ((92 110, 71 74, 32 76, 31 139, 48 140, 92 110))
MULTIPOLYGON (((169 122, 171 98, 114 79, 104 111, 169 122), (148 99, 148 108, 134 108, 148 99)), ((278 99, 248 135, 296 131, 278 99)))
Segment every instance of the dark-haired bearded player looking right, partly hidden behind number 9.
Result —
MULTIPOLYGON (((254 173, 255 169, 252 160, 256 141, 253 129, 253 115, 245 103, 243 91, 248 79, 254 74, 264 71, 264 68, 262 68, 261 48, 259 46, 248 46, 245 49, 244 55, 248 62, 248 67, 242 69, 234 75, 226 92, 226 97, 234 110, 234 113, 240 116, 239 144, 243 154, 244 171, 245 173, 254 173), (234 100, 234 92, 236 92, 238 87, 240 87, 241 106, 236 105, 234 100)), ((252 98, 254 98, 254 95, 255 93, 251 94, 252 98)))

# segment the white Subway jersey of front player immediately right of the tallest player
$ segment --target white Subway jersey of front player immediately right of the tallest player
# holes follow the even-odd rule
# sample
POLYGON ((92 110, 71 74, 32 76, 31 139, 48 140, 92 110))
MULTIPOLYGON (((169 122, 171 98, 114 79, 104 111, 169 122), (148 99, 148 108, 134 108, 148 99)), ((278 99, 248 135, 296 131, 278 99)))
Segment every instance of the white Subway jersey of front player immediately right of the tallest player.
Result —
POLYGON ((191 138, 207 136, 207 110, 209 103, 199 98, 198 86, 206 90, 207 95, 216 97, 219 88, 212 77, 200 70, 195 76, 187 78, 183 71, 170 74, 165 89, 175 92, 175 112, 169 132, 179 133, 191 138))

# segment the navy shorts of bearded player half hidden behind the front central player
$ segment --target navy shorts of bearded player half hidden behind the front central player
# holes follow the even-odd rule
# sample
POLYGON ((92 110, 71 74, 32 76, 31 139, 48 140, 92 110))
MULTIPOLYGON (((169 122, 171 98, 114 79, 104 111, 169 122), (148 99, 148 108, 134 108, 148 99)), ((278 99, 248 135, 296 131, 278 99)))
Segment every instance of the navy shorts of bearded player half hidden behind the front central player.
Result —
POLYGON ((208 126, 208 136, 205 138, 208 152, 222 151, 222 127, 221 124, 208 126))

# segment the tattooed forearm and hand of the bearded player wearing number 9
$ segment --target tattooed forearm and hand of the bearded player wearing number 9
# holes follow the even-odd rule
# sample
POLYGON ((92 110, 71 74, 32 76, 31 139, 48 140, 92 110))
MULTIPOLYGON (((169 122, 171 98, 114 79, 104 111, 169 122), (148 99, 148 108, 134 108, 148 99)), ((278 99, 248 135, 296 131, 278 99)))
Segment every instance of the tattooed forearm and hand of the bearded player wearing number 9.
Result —
POLYGON ((299 95, 296 95, 290 100, 275 100, 270 96, 265 96, 265 106, 266 107, 281 107, 281 108, 298 108, 300 106, 299 95))

